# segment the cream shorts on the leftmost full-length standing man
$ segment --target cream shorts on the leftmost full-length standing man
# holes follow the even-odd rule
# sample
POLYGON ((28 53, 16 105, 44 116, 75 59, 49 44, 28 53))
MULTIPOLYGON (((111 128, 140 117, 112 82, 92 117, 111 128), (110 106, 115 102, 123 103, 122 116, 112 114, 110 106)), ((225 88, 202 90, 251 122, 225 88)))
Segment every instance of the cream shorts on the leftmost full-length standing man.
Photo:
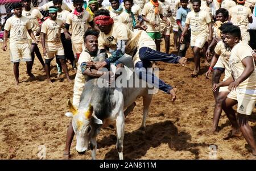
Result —
POLYGON ((18 43, 10 43, 10 57, 11 62, 20 62, 26 61, 30 62, 31 53, 30 53, 30 45, 28 43, 18 44, 18 43))

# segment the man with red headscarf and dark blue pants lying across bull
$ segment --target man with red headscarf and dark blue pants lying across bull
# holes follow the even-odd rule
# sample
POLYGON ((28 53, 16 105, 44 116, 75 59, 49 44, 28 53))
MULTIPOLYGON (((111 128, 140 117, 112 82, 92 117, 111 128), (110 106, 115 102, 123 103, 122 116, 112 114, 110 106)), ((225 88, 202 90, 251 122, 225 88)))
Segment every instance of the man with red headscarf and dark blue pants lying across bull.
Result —
POLYGON ((187 59, 176 55, 168 55, 155 51, 155 42, 143 30, 132 32, 125 24, 114 22, 110 18, 108 10, 98 10, 94 22, 100 28, 98 38, 99 50, 106 52, 106 48, 112 49, 112 56, 102 62, 96 62, 96 69, 109 66, 111 63, 118 65, 122 60, 133 60, 135 73, 144 81, 151 80, 152 84, 164 93, 171 95, 171 101, 176 99, 176 88, 167 85, 153 73, 148 74, 144 68, 151 67, 151 61, 164 61, 168 63, 180 63, 184 66, 187 59), (150 79, 146 79, 150 78, 150 79))

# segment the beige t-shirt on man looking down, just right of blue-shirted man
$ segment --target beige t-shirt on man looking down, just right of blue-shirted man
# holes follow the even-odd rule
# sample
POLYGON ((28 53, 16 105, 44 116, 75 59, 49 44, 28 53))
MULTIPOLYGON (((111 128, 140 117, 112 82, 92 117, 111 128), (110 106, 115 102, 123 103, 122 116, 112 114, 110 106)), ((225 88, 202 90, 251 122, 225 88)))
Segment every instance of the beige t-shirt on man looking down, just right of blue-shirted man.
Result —
POLYGON ((210 14, 208 12, 200 10, 199 12, 188 12, 185 23, 190 25, 191 35, 196 36, 199 34, 208 33, 209 30, 207 24, 211 21, 212 18, 210 18, 210 14))

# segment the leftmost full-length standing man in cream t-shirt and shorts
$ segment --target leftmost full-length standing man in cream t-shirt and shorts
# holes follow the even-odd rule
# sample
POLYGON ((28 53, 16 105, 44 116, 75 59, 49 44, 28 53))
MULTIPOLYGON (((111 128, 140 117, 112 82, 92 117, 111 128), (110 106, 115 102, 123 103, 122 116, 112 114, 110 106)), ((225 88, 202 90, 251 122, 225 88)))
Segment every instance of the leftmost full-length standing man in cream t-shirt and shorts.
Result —
POLYGON ((27 74, 30 78, 35 76, 31 73, 32 59, 30 53, 30 45, 27 40, 27 32, 36 42, 36 38, 32 32, 32 24, 22 15, 22 4, 13 3, 14 15, 6 20, 4 34, 3 34, 3 51, 7 49, 7 37, 10 32, 10 56, 11 62, 13 62, 15 84, 19 84, 19 62, 20 60, 27 63, 27 74))

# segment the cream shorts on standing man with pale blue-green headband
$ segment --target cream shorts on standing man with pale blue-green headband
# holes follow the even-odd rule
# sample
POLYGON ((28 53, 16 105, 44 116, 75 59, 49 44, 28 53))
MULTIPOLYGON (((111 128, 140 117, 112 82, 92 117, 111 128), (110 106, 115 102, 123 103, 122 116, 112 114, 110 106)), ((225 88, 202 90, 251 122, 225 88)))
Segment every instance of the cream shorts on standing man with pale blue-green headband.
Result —
POLYGON ((55 46, 46 45, 46 51, 47 51, 47 56, 44 56, 44 59, 46 59, 46 60, 52 60, 53 57, 55 57, 55 56, 59 59, 65 59, 65 53, 64 53, 62 44, 58 44, 55 46))

